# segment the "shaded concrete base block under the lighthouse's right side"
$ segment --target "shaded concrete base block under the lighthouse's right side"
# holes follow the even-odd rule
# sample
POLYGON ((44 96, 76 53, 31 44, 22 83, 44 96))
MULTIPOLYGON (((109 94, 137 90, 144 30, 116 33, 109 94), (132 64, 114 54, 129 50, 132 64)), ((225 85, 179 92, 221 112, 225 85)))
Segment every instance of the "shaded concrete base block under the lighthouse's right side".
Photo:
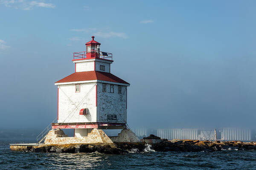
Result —
POLYGON ((141 142, 130 129, 123 129, 118 136, 109 136, 113 142, 141 142))

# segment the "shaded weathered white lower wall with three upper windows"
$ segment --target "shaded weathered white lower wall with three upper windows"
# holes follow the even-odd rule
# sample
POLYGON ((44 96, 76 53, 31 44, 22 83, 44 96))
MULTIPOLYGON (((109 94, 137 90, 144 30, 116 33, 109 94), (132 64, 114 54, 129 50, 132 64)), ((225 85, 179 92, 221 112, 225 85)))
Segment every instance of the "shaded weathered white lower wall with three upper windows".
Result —
POLYGON ((107 84, 107 91, 102 92, 102 83, 97 83, 98 122, 125 123, 127 121, 126 88, 122 86, 122 93, 118 94, 118 85, 114 85, 114 93, 110 93, 110 84, 107 84), (108 120, 108 114, 116 115, 117 120, 108 120))

